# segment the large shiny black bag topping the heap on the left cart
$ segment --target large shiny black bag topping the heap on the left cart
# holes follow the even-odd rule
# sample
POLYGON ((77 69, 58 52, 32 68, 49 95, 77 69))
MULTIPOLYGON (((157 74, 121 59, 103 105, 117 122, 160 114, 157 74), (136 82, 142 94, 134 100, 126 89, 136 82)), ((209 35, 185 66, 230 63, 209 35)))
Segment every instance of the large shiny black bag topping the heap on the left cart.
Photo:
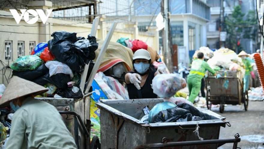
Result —
POLYGON ((85 63, 95 58, 94 52, 98 48, 95 37, 89 35, 87 39, 77 38, 76 33, 66 31, 56 31, 51 36, 53 39, 48 41, 49 51, 72 71, 82 72, 85 63))

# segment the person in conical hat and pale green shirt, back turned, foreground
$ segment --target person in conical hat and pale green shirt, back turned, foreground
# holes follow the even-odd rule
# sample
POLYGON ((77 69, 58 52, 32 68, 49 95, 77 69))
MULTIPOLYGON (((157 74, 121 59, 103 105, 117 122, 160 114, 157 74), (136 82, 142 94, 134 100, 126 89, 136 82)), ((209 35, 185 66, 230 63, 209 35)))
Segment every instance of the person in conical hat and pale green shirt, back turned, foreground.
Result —
POLYGON ((15 111, 6 149, 77 149, 58 110, 34 96, 48 91, 34 82, 13 76, 0 100, 15 111))

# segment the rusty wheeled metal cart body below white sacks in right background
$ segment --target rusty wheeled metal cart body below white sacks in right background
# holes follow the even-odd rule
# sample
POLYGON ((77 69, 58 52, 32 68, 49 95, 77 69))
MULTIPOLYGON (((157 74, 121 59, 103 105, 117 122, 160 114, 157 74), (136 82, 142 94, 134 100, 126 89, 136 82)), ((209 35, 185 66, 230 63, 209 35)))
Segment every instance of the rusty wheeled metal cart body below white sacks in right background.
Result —
POLYGON ((248 108, 248 92, 243 92, 242 72, 235 70, 219 70, 217 74, 223 77, 216 79, 209 76, 205 79, 206 105, 211 110, 212 104, 220 104, 219 111, 223 113, 225 104, 241 105, 248 108), (226 84, 225 84, 226 83, 226 84))

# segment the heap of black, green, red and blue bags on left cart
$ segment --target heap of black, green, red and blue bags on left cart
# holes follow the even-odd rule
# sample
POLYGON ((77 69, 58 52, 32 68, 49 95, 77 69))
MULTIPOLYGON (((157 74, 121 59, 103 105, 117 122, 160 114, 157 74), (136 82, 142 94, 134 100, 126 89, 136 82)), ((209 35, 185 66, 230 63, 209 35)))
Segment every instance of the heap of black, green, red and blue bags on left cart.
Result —
POLYGON ((85 64, 95 59, 96 38, 88 35, 85 39, 66 31, 56 31, 51 36, 53 39, 39 43, 31 55, 13 61, 13 76, 48 88, 41 97, 82 98, 80 76, 85 64))

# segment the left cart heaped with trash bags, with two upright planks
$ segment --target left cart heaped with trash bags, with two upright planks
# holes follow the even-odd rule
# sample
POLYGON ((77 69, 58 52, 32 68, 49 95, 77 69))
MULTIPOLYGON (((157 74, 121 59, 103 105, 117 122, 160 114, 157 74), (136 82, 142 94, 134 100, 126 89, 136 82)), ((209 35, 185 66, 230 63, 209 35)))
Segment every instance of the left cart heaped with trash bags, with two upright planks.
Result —
POLYGON ((53 39, 39 43, 31 55, 17 58, 10 64, 12 75, 42 85, 49 90, 36 99, 54 105, 73 135, 78 149, 100 148, 97 136, 91 139, 90 96, 91 84, 114 33, 113 22, 102 43, 96 62, 95 38, 100 17, 95 17, 87 38, 77 33, 55 31, 53 39))

